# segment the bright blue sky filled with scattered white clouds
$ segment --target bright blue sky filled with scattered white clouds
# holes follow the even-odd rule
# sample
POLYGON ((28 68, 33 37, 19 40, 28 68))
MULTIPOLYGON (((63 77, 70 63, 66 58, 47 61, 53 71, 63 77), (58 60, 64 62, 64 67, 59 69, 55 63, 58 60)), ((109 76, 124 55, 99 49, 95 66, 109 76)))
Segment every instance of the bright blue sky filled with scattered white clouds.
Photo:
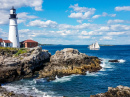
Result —
POLYGON ((20 41, 130 44, 130 0, 0 0, 0 38, 8 39, 14 6, 20 41))

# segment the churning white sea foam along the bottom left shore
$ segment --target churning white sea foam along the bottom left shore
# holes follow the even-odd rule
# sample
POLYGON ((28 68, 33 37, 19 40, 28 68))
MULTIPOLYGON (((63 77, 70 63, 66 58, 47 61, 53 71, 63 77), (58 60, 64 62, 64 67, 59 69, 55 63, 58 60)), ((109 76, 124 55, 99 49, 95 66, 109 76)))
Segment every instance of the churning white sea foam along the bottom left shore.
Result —
MULTIPOLYGON (((14 93, 18 94, 26 94, 28 96, 33 97, 63 97, 63 96, 54 96, 55 93, 53 91, 40 91, 36 87, 36 83, 45 82, 45 79, 34 79, 30 81, 24 82, 24 84, 17 84, 17 83, 9 83, 3 85, 2 87, 6 88, 8 91, 14 91, 14 93)), ((44 85, 43 85, 44 87, 44 85)))

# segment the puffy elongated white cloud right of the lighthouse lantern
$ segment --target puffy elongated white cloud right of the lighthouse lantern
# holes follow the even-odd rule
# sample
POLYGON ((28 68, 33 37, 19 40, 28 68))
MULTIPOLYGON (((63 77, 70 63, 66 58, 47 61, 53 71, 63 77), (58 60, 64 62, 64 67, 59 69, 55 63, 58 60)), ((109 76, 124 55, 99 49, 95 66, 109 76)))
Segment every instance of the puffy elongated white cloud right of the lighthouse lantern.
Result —
POLYGON ((36 26, 41 28, 56 28, 57 23, 51 20, 47 20, 47 21, 34 20, 29 22, 28 26, 36 26))

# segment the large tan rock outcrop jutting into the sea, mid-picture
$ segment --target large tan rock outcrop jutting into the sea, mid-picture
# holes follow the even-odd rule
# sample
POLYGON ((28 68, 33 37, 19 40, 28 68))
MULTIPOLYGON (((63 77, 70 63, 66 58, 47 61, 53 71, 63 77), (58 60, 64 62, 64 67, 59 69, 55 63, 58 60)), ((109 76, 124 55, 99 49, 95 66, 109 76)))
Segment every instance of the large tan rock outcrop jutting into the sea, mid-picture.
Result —
POLYGON ((71 74, 86 74, 86 71, 95 72, 101 69, 97 57, 80 53, 76 49, 66 48, 56 51, 50 62, 39 72, 39 78, 54 80, 55 76, 62 77, 71 74))

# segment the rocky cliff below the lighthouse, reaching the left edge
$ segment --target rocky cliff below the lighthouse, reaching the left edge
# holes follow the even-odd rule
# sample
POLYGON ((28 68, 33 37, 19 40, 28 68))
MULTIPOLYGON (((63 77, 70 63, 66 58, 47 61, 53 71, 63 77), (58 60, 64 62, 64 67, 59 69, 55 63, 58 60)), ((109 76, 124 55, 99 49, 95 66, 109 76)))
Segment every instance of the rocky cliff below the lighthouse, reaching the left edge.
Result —
POLYGON ((18 56, 13 53, 1 53, 0 83, 32 77, 35 71, 44 67, 50 56, 50 53, 41 47, 30 48, 18 56))

